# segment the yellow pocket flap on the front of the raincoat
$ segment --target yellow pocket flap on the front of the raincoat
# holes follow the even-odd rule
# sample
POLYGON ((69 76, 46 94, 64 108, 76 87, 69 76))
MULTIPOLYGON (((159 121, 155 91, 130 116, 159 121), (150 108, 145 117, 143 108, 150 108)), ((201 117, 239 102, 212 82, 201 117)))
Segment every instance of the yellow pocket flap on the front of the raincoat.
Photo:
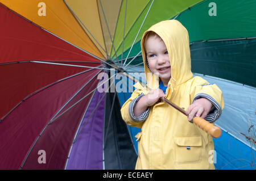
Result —
POLYGON ((175 137, 174 142, 179 146, 202 146, 201 136, 175 137))

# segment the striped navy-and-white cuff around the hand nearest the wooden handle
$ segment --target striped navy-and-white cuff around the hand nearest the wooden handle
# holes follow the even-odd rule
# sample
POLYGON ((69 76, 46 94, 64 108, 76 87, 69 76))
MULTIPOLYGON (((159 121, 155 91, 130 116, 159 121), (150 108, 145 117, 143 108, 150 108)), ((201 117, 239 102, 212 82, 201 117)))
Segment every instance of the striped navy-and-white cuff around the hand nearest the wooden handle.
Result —
POLYGON ((197 94, 193 99, 193 102, 199 98, 207 98, 213 104, 213 107, 205 117, 205 120, 209 121, 209 123, 214 123, 214 121, 216 121, 221 116, 220 104, 218 104, 218 102, 216 102, 216 100, 214 100, 210 95, 204 93, 197 94))

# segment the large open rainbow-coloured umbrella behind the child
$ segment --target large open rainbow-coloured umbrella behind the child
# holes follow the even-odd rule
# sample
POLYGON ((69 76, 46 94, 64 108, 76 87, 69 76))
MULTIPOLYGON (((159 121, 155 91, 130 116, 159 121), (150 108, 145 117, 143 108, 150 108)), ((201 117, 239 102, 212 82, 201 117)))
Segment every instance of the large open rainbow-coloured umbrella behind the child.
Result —
POLYGON ((216 168, 255 168, 255 0, 0 3, 1 169, 133 169, 139 129, 119 110, 134 88, 117 69, 141 73, 142 34, 167 19, 189 32, 192 71, 224 93, 216 168), (97 89, 101 73, 114 91, 97 89))

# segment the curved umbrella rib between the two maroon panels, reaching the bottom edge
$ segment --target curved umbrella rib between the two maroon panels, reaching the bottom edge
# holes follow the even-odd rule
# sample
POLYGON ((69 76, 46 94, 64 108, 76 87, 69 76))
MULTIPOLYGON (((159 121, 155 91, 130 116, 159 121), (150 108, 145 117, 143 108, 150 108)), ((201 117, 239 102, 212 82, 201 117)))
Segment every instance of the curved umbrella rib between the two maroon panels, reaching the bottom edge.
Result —
MULTIPOLYGON (((100 70, 100 71, 101 71, 101 70, 100 70)), ((100 73, 100 71, 99 71, 98 73, 100 73)), ((97 75, 97 74, 96 74, 96 75, 97 75)), ((94 75, 94 77, 96 77, 96 75, 94 75)), ((94 77, 93 77, 93 78, 94 78, 94 77)), ((86 85, 88 85, 88 83, 89 83, 90 81, 92 81, 93 78, 91 78, 88 82, 86 82, 85 85, 82 86, 82 88, 81 88, 79 91, 77 91, 76 94, 73 95, 72 98, 69 99, 69 100, 64 104, 64 106, 60 108, 59 111, 57 111, 57 113, 55 113, 55 115, 52 117, 52 119, 53 119, 61 110, 63 110, 63 108, 64 108, 69 102, 71 102, 71 100, 72 100, 77 94, 79 94, 79 92, 80 92, 86 85)), ((58 116, 58 117, 59 117, 59 116, 58 116)), ((24 158, 24 161, 23 161, 22 165, 20 165, 20 169, 22 169, 22 167, 24 166, 25 162, 27 161, 28 155, 30 155, 32 149, 34 148, 36 142, 39 140, 40 136, 42 136, 44 130, 48 127, 49 124, 52 123, 52 119, 49 120, 49 122, 46 124, 46 126, 45 126, 45 127, 43 128, 43 130, 40 132, 39 136, 38 136, 38 137, 36 138, 36 140, 34 141, 33 145, 31 146, 30 150, 28 151, 26 157, 24 158)))

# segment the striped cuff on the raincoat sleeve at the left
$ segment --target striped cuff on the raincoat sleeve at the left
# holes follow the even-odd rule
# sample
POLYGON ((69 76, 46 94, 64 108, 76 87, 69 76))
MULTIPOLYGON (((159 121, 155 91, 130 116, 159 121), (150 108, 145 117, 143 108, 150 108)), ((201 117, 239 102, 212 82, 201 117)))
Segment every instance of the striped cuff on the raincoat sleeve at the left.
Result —
POLYGON ((130 105, 129 105, 129 115, 131 117, 131 119, 135 122, 141 122, 141 121, 144 121, 147 119, 147 116, 148 116, 148 113, 149 113, 149 110, 150 110, 150 107, 147 108, 147 110, 145 110, 141 116, 139 117, 136 117, 134 116, 133 114, 133 109, 134 109, 134 106, 135 104, 138 102, 139 99, 142 98, 142 96, 144 96, 144 94, 142 93, 141 95, 139 95, 137 98, 133 99, 131 102, 130 102, 130 105))

